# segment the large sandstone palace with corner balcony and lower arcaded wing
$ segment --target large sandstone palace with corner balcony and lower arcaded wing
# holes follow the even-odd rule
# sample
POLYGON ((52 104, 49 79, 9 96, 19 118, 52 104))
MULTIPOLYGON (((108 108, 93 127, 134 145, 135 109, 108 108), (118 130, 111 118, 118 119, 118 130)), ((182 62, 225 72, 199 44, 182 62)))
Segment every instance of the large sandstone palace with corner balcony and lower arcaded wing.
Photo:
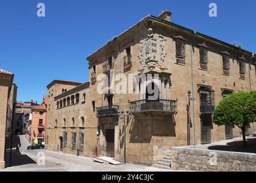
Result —
MULTIPOLYGON (((47 86, 49 150, 122 161, 125 150, 128 162, 152 165, 171 146, 241 136, 235 126, 212 124, 211 114, 227 94, 256 89, 254 54, 172 23, 170 11, 147 15, 87 60, 89 82, 54 80, 47 86), (106 79, 104 91, 97 92, 97 77, 113 71, 123 74, 122 80, 128 74, 155 75, 128 79, 132 94, 115 92, 111 86, 118 77, 106 79), (154 101, 148 86, 158 91, 154 101)), ((253 133, 254 125, 247 130, 253 133)))

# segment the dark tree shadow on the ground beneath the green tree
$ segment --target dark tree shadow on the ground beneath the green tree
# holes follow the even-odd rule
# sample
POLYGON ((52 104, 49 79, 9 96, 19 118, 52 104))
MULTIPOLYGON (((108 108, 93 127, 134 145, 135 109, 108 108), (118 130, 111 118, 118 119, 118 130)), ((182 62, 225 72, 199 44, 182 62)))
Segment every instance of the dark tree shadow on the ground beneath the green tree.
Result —
POLYGON ((243 147, 243 141, 228 142, 227 145, 209 146, 209 150, 223 150, 229 152, 256 153, 256 138, 247 139, 247 148, 243 147))

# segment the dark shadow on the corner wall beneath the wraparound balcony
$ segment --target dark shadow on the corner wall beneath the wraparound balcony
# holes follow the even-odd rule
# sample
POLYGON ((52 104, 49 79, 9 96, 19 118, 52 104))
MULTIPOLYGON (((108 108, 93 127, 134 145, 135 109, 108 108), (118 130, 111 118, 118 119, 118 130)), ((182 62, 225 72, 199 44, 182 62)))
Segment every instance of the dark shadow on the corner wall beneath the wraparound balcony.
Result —
POLYGON ((130 143, 150 143, 152 136, 176 137, 174 116, 166 118, 133 117, 131 122, 130 143))

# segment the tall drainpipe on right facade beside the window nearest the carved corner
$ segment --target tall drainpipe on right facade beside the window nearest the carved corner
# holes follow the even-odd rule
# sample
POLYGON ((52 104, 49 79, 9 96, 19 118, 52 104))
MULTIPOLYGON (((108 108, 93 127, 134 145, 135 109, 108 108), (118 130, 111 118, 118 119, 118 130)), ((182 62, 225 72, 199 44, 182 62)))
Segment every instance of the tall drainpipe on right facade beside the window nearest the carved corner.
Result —
POLYGON ((193 141, 195 146, 195 92, 194 92, 194 76, 193 76, 193 59, 192 59, 192 38, 196 35, 196 31, 190 38, 190 63, 191 63, 191 79, 192 79, 192 108, 193 108, 193 141))

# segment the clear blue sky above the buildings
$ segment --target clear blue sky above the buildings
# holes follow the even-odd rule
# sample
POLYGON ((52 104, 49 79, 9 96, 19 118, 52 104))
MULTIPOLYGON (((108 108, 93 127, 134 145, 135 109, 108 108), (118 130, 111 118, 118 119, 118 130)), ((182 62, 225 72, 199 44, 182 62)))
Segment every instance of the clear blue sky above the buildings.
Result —
POLYGON ((53 79, 88 81, 85 57, 147 14, 172 11, 172 22, 256 53, 256 1, 1 0, 0 68, 15 74, 19 101, 42 101, 53 79), (37 3, 46 17, 37 17, 37 3), (208 5, 218 5, 218 17, 208 5))

